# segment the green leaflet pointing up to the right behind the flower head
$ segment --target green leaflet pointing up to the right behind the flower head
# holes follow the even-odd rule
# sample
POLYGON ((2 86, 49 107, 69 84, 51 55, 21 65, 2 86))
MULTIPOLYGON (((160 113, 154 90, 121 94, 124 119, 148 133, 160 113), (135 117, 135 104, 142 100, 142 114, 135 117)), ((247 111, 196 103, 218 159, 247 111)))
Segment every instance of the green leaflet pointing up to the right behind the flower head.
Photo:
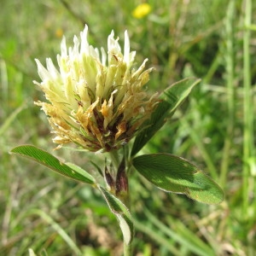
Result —
POLYGON ((200 81, 200 79, 195 78, 183 79, 170 85, 163 91, 160 95, 162 102, 155 108, 151 119, 143 124, 145 129, 137 135, 135 142, 133 143, 133 148, 131 149, 131 156, 137 154, 143 146, 148 143, 148 140, 154 136, 154 133, 160 130, 166 123, 167 118, 172 117, 177 107, 187 96, 189 96, 191 90, 200 81))

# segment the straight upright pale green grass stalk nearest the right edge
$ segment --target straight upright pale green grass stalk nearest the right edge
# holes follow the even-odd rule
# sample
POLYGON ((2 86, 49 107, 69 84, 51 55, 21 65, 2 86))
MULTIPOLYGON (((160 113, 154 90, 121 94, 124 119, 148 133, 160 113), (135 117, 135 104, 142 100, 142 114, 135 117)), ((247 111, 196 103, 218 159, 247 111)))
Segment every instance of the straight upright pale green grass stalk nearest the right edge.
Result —
MULTIPOLYGON (((250 165, 253 157, 253 98, 251 95, 251 69, 250 69, 250 38, 248 27, 252 20, 252 0, 245 0, 244 33, 243 33, 243 166, 242 166, 242 213, 248 218, 249 193, 252 189, 250 183, 250 165)), ((253 190, 252 190, 253 191, 253 190)))

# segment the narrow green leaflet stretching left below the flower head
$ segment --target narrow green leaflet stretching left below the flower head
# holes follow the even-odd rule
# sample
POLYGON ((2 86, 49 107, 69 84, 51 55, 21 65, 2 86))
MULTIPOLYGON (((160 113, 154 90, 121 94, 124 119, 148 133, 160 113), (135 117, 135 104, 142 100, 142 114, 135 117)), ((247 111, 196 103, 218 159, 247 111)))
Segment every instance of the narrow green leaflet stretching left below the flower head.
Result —
POLYGON ((71 163, 62 163, 54 155, 49 154, 43 149, 37 148, 32 145, 21 145, 13 148, 11 154, 18 154, 28 159, 37 161, 39 164, 48 167, 49 169, 60 173, 61 175, 71 177, 83 183, 94 184, 95 180, 90 174, 84 171, 79 166, 71 163))

